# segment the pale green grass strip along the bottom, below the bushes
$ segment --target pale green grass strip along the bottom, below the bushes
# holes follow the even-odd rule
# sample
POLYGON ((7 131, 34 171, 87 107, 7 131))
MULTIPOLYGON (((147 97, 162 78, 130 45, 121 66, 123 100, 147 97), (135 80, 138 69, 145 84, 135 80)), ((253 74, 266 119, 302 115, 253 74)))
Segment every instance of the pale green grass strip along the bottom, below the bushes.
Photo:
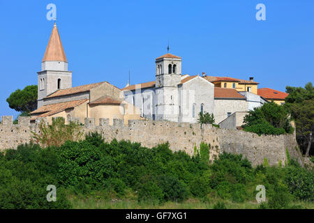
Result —
MULTIPOLYGON (((74 209, 213 209, 217 201, 222 201, 228 209, 257 209, 259 204, 256 201, 246 201, 244 203, 234 203, 221 199, 188 199, 183 202, 168 201, 157 205, 152 203, 138 202, 135 199, 105 199, 101 197, 68 197, 74 209)), ((314 209, 311 202, 293 202, 292 205, 301 205, 306 209, 314 209)))

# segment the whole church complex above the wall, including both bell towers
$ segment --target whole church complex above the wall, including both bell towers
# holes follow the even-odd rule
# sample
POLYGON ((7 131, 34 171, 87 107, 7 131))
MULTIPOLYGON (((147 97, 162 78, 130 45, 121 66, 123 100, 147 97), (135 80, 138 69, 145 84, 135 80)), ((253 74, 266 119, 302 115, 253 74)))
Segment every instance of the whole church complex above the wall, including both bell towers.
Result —
MULTIPOLYGON (((200 112, 214 114, 216 124, 233 114, 248 112, 267 102, 257 95, 257 82, 232 77, 187 75, 181 70, 180 56, 164 54, 156 58, 154 80, 127 84, 119 89, 107 81, 72 86, 72 72, 64 52, 57 25, 38 72, 38 109, 31 112, 31 121, 61 116, 70 121, 79 118, 114 118, 129 120, 196 123, 200 112)), ((243 119, 243 118, 242 118, 243 119)))

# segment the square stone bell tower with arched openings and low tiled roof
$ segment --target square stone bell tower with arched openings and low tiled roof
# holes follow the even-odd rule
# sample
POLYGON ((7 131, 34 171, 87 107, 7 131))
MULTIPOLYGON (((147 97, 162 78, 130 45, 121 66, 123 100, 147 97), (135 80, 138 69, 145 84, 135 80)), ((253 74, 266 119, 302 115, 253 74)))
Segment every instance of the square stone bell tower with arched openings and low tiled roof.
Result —
POLYGON ((167 53, 156 59, 156 120, 178 121, 181 57, 167 53))

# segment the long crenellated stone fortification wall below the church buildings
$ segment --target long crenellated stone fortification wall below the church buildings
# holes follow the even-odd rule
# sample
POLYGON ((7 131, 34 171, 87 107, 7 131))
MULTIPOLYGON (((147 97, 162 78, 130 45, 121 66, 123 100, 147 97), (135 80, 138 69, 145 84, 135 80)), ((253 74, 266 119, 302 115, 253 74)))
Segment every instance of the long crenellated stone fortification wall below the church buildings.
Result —
MULTIPOLYGON (((73 119, 75 120, 75 119, 73 119)), ((29 117, 20 117, 19 123, 13 125, 12 116, 2 116, 0 123, 0 150, 16 148, 19 144, 29 142, 33 132, 39 132, 38 123, 29 123, 29 117)), ((210 144, 210 159, 223 153, 243 154, 248 157, 254 166, 263 164, 267 159, 269 165, 278 165, 287 162, 287 153, 290 159, 298 160, 302 164, 301 153, 299 152, 294 134, 280 136, 258 136, 255 133, 240 130, 227 130, 215 128, 212 125, 190 123, 173 123, 168 121, 128 121, 124 125, 121 119, 114 119, 109 125, 109 119, 99 118, 99 125, 95 125, 94 118, 85 118, 84 132, 99 132, 105 141, 112 139, 130 140, 139 142, 142 146, 152 148, 158 144, 168 142, 172 151, 184 150, 193 155, 194 146, 199 148, 203 141, 210 144)))

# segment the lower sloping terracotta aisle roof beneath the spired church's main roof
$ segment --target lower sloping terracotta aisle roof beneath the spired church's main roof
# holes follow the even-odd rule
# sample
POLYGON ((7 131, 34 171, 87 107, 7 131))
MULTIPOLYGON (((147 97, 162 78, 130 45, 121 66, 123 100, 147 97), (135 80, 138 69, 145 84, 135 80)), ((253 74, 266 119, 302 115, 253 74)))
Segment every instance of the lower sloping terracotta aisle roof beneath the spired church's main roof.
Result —
POLYGON ((84 102, 87 102, 88 99, 83 100, 73 100, 71 102, 61 102, 52 105, 44 105, 39 109, 31 112, 32 116, 36 117, 47 117, 52 116, 53 114, 57 114, 59 112, 63 112, 66 109, 70 109, 73 107, 77 107, 78 105, 82 105, 84 102))

